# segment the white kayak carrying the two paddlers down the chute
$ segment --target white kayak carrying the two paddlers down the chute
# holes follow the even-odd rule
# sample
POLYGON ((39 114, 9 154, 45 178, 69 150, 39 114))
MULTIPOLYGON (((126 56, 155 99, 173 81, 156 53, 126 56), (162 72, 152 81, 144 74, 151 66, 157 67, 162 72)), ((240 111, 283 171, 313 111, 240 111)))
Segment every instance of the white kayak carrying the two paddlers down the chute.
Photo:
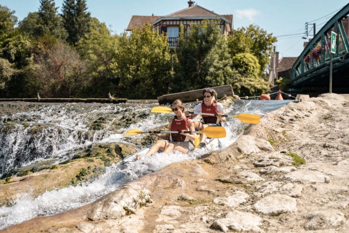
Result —
MULTIPOLYGON (((190 153, 202 155, 202 154, 206 153, 207 151, 222 150, 222 149, 230 146, 230 144, 234 140, 234 134, 231 132, 228 122, 225 122, 222 126, 224 127, 224 129, 226 131, 226 136, 224 138, 207 138, 205 147, 194 149, 194 150, 190 151, 190 153)), ((121 161, 121 164, 123 165, 123 164, 129 163, 129 162, 137 161, 139 158, 141 158, 143 155, 145 155, 146 152, 148 152, 148 150, 152 146, 153 145, 150 145, 149 147, 143 148, 142 150, 136 151, 136 152, 128 155, 127 157, 125 157, 121 161)), ((158 152, 161 153, 162 151, 159 150, 158 152)))

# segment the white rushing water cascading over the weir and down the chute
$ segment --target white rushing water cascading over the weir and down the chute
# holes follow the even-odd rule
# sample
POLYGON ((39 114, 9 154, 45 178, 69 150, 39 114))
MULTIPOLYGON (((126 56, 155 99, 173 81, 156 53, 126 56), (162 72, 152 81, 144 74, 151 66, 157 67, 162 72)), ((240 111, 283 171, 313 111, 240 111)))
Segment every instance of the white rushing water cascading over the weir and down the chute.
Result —
MULTIPOLYGON (((225 112, 227 115, 252 113, 263 116, 289 101, 291 100, 238 100, 225 112)), ((150 109, 154 106, 127 103, 31 104, 28 111, 1 116, 0 175, 37 161, 54 160, 59 163, 94 143, 132 143, 127 137, 122 137, 122 133, 131 128, 149 131, 167 124, 173 117, 172 114, 150 114, 150 109)), ((194 103, 187 107, 193 109, 194 103)), ((224 147, 232 144, 248 126, 236 118, 229 117, 227 120, 233 135, 224 147)), ((200 156, 200 153, 195 152, 189 155, 161 153, 144 156, 127 163, 127 166, 113 164, 91 182, 47 191, 35 198, 31 193, 23 194, 13 206, 0 207, 0 229, 36 216, 51 215, 85 205, 147 173, 159 171, 174 162, 200 156)))

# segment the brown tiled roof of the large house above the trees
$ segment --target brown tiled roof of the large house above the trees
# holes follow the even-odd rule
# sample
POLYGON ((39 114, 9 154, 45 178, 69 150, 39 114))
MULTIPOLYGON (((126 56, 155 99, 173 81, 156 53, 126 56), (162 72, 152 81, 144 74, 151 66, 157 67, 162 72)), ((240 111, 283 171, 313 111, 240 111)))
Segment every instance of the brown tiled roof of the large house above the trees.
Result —
POLYGON ((220 18, 230 25, 230 28, 233 28, 233 15, 218 15, 213 11, 209 11, 204 7, 193 5, 183 10, 171 13, 166 16, 132 16, 130 22, 127 26, 127 31, 131 31, 134 28, 140 28, 144 24, 156 24, 161 20, 174 20, 174 19, 214 19, 220 18))

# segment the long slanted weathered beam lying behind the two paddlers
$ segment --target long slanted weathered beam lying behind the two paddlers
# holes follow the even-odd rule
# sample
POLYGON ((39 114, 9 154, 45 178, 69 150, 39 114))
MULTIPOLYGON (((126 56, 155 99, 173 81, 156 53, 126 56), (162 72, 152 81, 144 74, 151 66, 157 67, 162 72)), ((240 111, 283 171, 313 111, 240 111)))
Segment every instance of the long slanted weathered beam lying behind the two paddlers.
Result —
POLYGON ((174 100, 177 99, 182 100, 183 103, 203 100, 202 90, 204 89, 215 89, 217 92, 217 99, 221 99, 225 96, 234 96, 233 87, 232 85, 228 84, 159 96, 158 102, 159 104, 171 104, 174 100))

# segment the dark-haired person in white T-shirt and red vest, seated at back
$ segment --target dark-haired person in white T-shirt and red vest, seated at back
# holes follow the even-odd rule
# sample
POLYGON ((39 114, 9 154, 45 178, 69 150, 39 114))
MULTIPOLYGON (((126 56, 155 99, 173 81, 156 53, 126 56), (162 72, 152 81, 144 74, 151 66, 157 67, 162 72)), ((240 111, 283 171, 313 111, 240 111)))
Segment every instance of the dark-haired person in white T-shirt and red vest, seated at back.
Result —
MULTIPOLYGON (((193 125, 196 130, 203 130, 207 126, 221 126, 222 123, 226 121, 224 115, 224 109, 221 103, 217 102, 217 92, 214 89, 204 89, 202 91, 203 93, 203 102, 196 105, 194 109, 194 113, 190 114, 190 118, 194 119, 198 114, 195 113, 203 113, 201 114, 202 121, 200 120, 193 120, 193 125), (208 116, 204 113, 210 113, 210 114, 216 114, 216 116, 208 116)), ((189 116, 189 112, 186 111, 186 116, 189 116)), ((199 147, 205 147, 206 146, 206 138, 207 136, 205 134, 201 134, 201 140, 199 147)))

